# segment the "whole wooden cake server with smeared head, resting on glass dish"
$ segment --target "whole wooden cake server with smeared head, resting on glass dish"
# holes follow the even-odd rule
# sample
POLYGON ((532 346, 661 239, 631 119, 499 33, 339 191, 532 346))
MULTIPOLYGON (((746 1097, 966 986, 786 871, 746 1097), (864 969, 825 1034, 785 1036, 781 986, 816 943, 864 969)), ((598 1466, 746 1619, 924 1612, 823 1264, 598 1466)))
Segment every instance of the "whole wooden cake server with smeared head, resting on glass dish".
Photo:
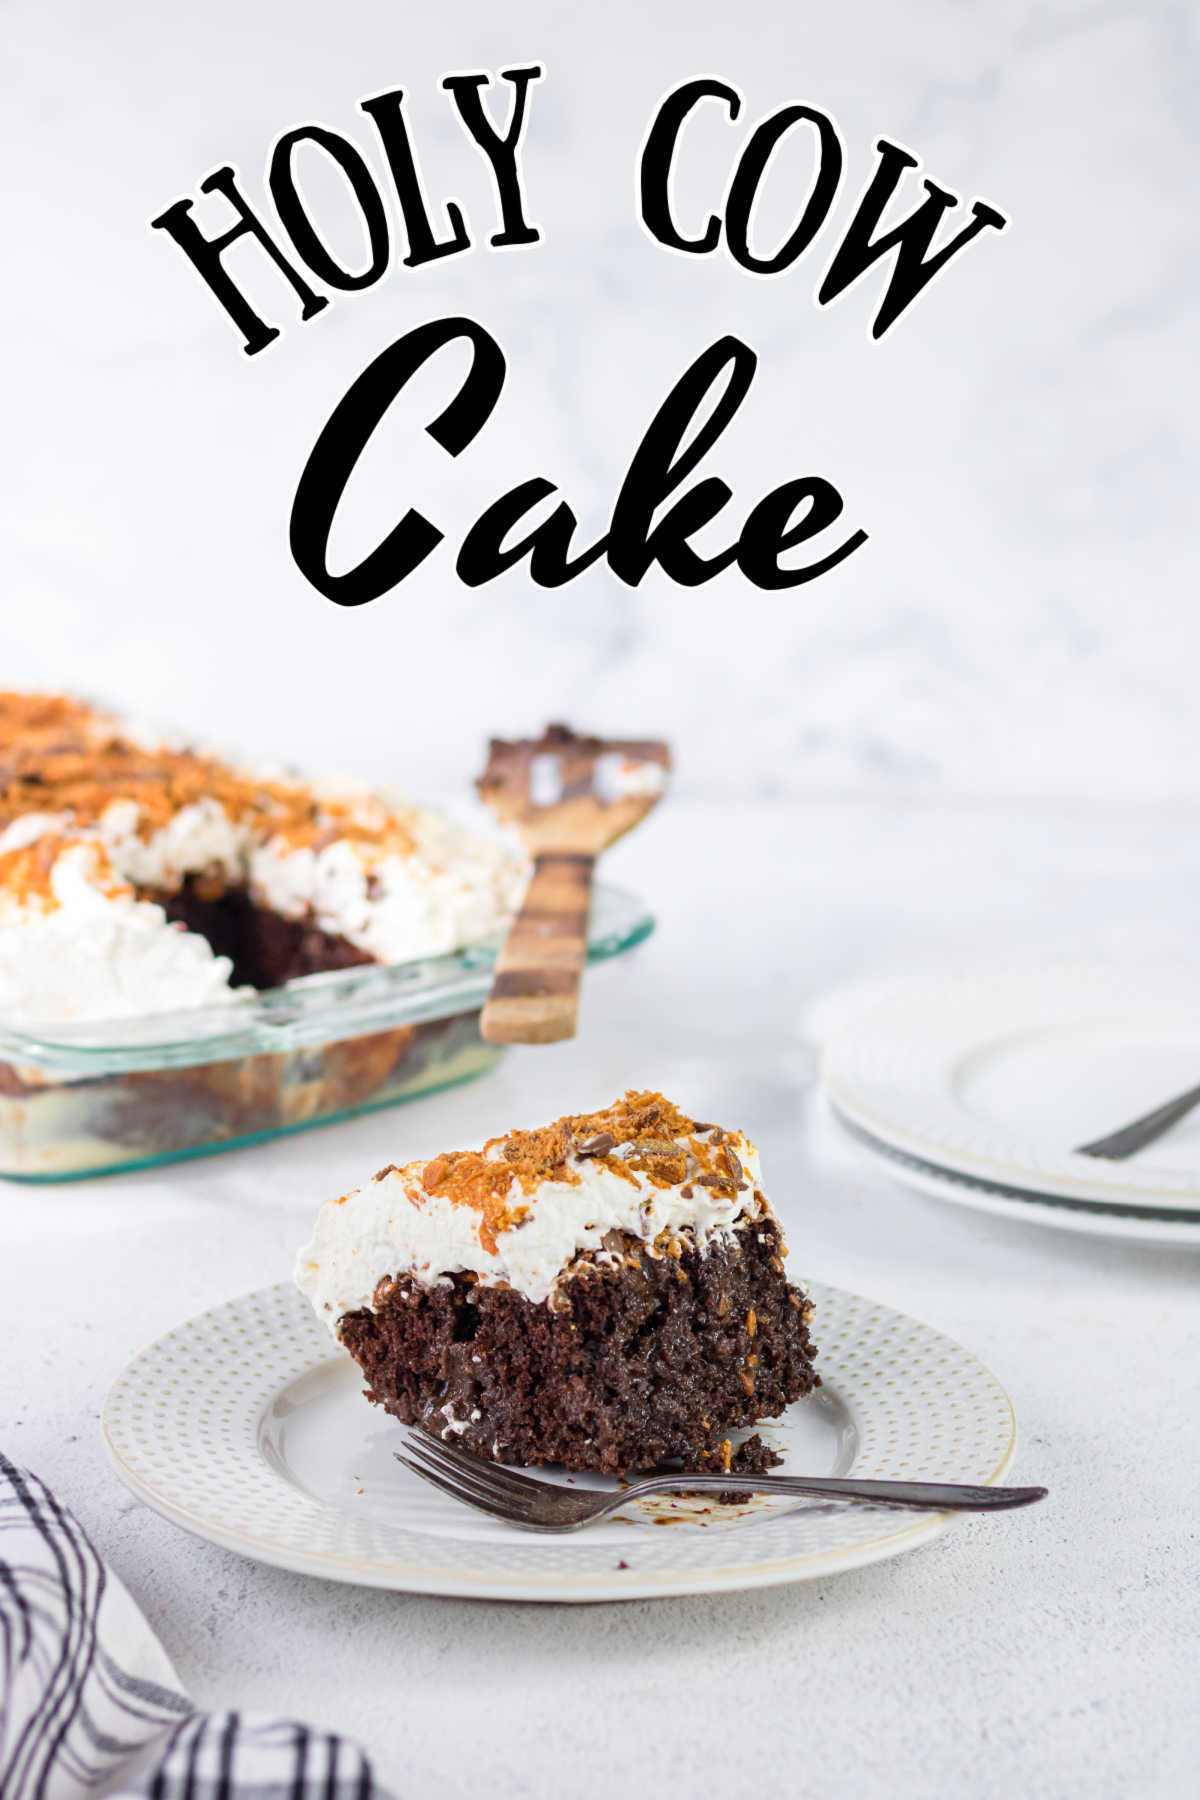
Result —
POLYGON ((666 743, 581 738, 569 725, 549 725, 540 738, 491 740, 477 788, 498 819, 516 826, 533 878, 497 958, 480 1026, 489 1042, 556 1044, 576 1035, 596 859, 646 817, 669 767, 666 743))

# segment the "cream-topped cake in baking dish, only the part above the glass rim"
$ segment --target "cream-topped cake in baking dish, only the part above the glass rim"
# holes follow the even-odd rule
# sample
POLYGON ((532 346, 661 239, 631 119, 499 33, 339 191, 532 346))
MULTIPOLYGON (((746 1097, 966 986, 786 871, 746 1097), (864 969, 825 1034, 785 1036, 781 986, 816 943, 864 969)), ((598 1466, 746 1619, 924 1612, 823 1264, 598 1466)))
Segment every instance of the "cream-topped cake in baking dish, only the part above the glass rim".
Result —
POLYGON ((365 788, 259 778, 61 695, 0 695, 0 1017, 113 1019, 455 950, 525 864, 365 788))

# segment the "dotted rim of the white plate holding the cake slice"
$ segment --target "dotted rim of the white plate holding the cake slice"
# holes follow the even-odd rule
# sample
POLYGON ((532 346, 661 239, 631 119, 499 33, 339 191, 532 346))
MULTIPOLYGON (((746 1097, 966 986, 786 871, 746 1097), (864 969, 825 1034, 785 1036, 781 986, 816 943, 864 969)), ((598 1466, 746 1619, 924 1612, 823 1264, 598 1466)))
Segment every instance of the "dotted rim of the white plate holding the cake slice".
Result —
MULTIPOLYGON (((1007 1440, 1004 1451, 1000 1453, 995 1467, 982 1478, 975 1478, 973 1485, 995 1487, 1011 1469, 1016 1456, 1018 1431, 1016 1431, 1016 1413, 1013 1400, 1000 1382, 999 1375, 961 1345, 955 1337, 946 1332, 937 1330, 932 1325, 925 1325, 923 1319, 912 1314, 900 1312, 896 1307, 885 1301, 869 1300, 869 1296, 856 1294, 853 1289, 842 1289, 828 1282, 808 1283, 811 1287, 820 1287, 826 1292, 837 1292, 847 1300, 865 1303, 869 1307, 878 1307, 896 1319, 903 1319, 907 1325, 919 1327, 932 1337, 941 1339, 963 1357, 981 1368, 991 1381, 997 1399, 1002 1402, 1007 1415, 1007 1440)), ((565 1573, 547 1571, 545 1575, 531 1573, 529 1570, 513 1571, 513 1575, 502 1575, 495 1570, 464 1570, 462 1566, 443 1566, 434 1561, 423 1562, 380 1562, 367 1557, 353 1557, 344 1552, 308 1552, 297 1550, 293 1546, 279 1546, 268 1537, 257 1537, 254 1532, 228 1530, 221 1525, 212 1523, 205 1516, 194 1512, 187 1505, 164 1498, 155 1487, 151 1487, 142 1476, 126 1462, 126 1458, 117 1449, 113 1442, 113 1415, 115 1406, 121 1397, 121 1390, 126 1381, 133 1375, 139 1363, 149 1357, 176 1332, 187 1330, 198 1325, 201 1319, 212 1314, 223 1312, 227 1307, 236 1307, 246 1301, 263 1300, 266 1296, 277 1296, 281 1291, 293 1292, 290 1282, 275 1282, 266 1287, 250 1289, 245 1294, 236 1294, 230 1300, 218 1301, 212 1307, 205 1307, 201 1312, 184 1319, 180 1325, 171 1327, 162 1332, 157 1339, 137 1352, 113 1377, 104 1402, 101 1406, 101 1436, 104 1449, 108 1453, 110 1463, 113 1465, 117 1476, 124 1485, 142 1499, 153 1512, 169 1523, 189 1532, 193 1537, 200 1537, 207 1543, 218 1544, 223 1550, 230 1550, 236 1555, 248 1557, 250 1561, 264 1562, 270 1568, 282 1568, 290 1573, 315 1575, 324 1580, 340 1580, 360 1588, 372 1588, 381 1591, 396 1593, 423 1593, 439 1595, 444 1598, 479 1598, 479 1600, 518 1600, 531 1604, 596 1604, 608 1600, 651 1600, 651 1598, 669 1598, 694 1593, 729 1593, 745 1591, 752 1588, 775 1588, 786 1586, 797 1580, 813 1580, 822 1575, 847 1573, 856 1568, 867 1568, 873 1562, 889 1561, 894 1555, 901 1555, 905 1550, 918 1548, 939 1537, 948 1526, 961 1525, 963 1514, 954 1512, 930 1512, 918 1519, 909 1519, 905 1525, 898 1526, 883 1537, 874 1537, 864 1544, 849 1544, 844 1548, 829 1548, 822 1552, 806 1552, 797 1557, 775 1557, 763 1562, 729 1562, 716 1568, 660 1568, 660 1570, 608 1570, 603 1575, 597 1571, 579 1571, 565 1573)), ((336 1354, 329 1357, 336 1361, 336 1354)), ((317 1364, 313 1364, 317 1366, 317 1364)))

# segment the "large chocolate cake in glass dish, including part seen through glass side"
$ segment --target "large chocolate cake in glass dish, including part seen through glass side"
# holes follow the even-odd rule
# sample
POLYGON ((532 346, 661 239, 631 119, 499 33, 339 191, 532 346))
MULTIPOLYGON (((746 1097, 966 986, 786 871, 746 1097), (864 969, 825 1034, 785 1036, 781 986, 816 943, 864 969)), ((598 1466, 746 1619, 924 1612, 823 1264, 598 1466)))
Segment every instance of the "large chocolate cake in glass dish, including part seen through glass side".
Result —
POLYGON ((149 1069, 20 1051, 59 1026, 245 1008, 297 977, 459 950, 504 929, 525 880, 524 853, 425 808, 257 774, 65 695, 0 693, 0 1030, 16 1042, 0 1172, 214 1148, 480 1073, 495 1053, 477 1006, 212 1062, 193 1022, 178 1037, 196 1058, 149 1069))

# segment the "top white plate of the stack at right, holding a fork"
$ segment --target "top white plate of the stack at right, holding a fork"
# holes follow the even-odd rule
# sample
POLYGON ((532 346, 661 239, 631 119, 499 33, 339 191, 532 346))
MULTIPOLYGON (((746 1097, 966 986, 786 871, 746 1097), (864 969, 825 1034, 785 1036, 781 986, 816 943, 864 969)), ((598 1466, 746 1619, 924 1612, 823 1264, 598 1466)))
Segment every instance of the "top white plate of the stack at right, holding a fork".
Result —
POLYGON ((837 1112, 952 1175, 1200 1219, 1200 1111, 1126 1163, 1087 1143, 1200 1082, 1200 970, 995 965, 896 983, 826 1044, 837 1112))

